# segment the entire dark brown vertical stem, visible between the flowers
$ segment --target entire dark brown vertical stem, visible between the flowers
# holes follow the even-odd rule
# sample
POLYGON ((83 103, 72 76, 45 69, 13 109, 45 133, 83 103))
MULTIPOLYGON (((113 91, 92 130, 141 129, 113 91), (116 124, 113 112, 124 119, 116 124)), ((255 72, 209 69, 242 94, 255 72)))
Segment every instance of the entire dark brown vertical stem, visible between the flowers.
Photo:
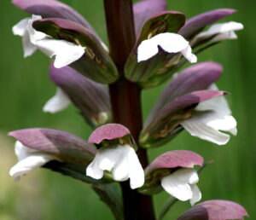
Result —
MULTIPOLYGON (((131 0, 104 0, 108 28, 110 55, 118 67, 120 78, 109 85, 113 121, 124 124, 137 142, 142 130, 141 89, 124 77, 125 61, 135 43, 135 32, 131 0)), ((148 165, 147 151, 137 151, 143 167, 148 165)), ((122 182, 125 220, 154 220, 151 196, 137 193, 129 182, 122 182)))

